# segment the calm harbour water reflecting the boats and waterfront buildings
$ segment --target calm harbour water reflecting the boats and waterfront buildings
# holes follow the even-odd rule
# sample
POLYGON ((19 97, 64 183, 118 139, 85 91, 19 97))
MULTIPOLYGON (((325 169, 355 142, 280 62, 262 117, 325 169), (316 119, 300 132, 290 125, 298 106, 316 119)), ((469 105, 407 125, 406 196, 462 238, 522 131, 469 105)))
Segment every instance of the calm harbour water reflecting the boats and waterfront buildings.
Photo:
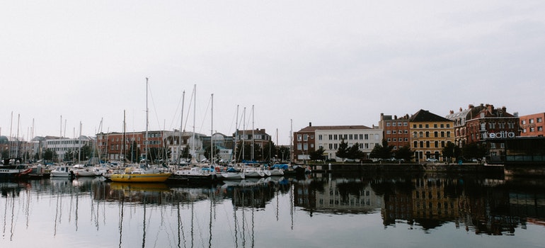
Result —
POLYGON ((0 181, 0 247, 545 247, 545 180, 0 181))

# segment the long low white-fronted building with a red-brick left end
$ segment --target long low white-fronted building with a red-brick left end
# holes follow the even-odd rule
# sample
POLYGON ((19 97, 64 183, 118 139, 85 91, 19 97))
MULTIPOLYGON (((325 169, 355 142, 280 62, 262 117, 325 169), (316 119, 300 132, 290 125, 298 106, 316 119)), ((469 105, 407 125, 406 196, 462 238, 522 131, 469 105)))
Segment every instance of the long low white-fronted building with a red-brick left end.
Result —
POLYGON ((323 147, 323 157, 335 159, 341 162, 342 159, 335 156, 340 142, 348 143, 352 147, 357 143, 360 151, 369 154, 375 145, 382 141, 382 130, 378 127, 369 128, 365 125, 331 125, 331 126, 309 126, 294 133, 293 152, 296 162, 303 162, 309 159, 309 154, 323 147))

